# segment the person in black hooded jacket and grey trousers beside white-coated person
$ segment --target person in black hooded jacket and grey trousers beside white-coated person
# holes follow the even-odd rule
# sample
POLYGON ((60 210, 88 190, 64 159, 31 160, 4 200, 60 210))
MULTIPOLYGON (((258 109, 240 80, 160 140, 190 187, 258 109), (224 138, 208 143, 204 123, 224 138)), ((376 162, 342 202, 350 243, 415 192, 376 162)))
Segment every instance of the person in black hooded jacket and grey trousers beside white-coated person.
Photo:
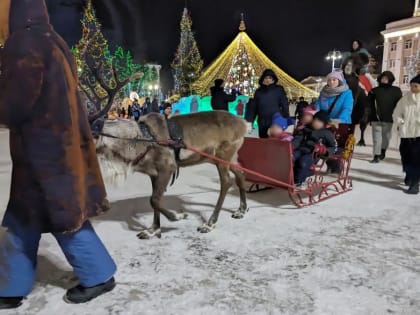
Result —
POLYGON ((370 121, 372 122, 373 160, 379 163, 385 159, 392 136, 392 114, 402 98, 399 87, 392 86, 395 77, 390 71, 385 71, 378 77, 379 86, 374 88, 369 96, 370 121))

